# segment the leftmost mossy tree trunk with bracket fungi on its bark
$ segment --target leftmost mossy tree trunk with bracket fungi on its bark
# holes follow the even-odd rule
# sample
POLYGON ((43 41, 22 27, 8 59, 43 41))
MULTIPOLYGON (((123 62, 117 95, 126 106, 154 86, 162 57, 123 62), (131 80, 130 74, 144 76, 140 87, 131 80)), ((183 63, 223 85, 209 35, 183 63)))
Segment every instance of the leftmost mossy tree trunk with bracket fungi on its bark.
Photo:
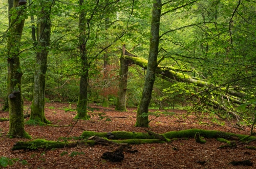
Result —
POLYGON ((14 1, 13 18, 11 19, 11 27, 8 37, 8 80, 7 92, 9 102, 9 134, 11 137, 20 136, 31 138, 24 129, 24 114, 23 114, 23 96, 20 88, 22 84, 22 68, 19 62, 19 46, 22 37, 25 18, 24 7, 19 7, 18 0, 14 1))

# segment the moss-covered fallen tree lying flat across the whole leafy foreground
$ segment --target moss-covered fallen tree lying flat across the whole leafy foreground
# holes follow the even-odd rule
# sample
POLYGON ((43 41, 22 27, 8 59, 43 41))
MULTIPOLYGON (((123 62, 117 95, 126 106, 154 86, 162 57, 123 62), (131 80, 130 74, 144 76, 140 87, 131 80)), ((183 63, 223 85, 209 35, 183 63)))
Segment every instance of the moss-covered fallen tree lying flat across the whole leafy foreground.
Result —
POLYGON ((112 136, 112 139, 108 139, 110 134, 107 132, 84 131, 81 135, 82 140, 77 142, 59 142, 45 139, 35 139, 29 142, 17 142, 15 145, 13 145, 11 150, 52 149, 65 147, 70 148, 84 144, 91 146, 96 144, 128 146, 133 144, 166 143, 172 142, 178 138, 195 138, 196 133, 200 133, 200 135, 204 138, 224 138, 237 141, 243 138, 246 138, 244 141, 253 140, 256 138, 254 136, 248 137, 248 135, 234 134, 216 130, 188 129, 181 131, 169 131, 162 134, 154 133, 152 131, 148 131, 147 133, 113 131, 111 132, 111 135, 114 137, 112 136))

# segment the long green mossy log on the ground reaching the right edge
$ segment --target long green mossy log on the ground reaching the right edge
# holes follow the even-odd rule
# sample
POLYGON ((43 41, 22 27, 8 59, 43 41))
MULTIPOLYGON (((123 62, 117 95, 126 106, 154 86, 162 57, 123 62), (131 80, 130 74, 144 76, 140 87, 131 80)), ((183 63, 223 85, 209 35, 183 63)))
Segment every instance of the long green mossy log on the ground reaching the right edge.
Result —
MULTIPOLYGON (((231 139, 231 140, 239 140, 241 138, 246 137, 247 135, 242 134, 234 134, 234 133, 228 133, 223 131, 217 131, 217 130, 203 130, 203 129, 188 129, 188 130, 181 130, 181 131, 169 131, 166 133, 162 133, 165 138, 194 138, 195 134, 199 132, 201 136, 205 138, 225 138, 225 139, 231 139)), ((93 135, 97 135, 99 137, 107 137, 107 132, 93 132, 93 131, 84 131, 82 133, 82 137, 91 137, 93 135)), ((113 131, 112 134, 115 136, 115 139, 153 139, 155 136, 148 135, 147 133, 142 132, 126 132, 126 131, 113 131)), ((255 139, 256 137, 250 136, 247 138, 247 140, 255 139)))

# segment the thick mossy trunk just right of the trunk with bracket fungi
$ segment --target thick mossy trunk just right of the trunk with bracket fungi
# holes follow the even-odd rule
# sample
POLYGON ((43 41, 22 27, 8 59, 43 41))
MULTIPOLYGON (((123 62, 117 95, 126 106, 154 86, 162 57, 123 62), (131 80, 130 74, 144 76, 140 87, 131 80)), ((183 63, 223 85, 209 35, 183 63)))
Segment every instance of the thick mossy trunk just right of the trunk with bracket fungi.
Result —
MULTIPOLYGON (((41 12, 39 14, 40 33, 38 48, 36 53, 35 74, 34 74, 34 90, 33 100, 31 105, 30 121, 36 123, 50 124, 45 117, 45 88, 46 88, 46 71, 47 71, 47 57, 50 49, 51 38, 51 2, 40 2, 41 12)), ((35 40, 35 37, 34 37, 35 40)), ((33 124, 35 123, 33 122, 33 124)), ((28 121, 29 123, 29 121, 28 121)))

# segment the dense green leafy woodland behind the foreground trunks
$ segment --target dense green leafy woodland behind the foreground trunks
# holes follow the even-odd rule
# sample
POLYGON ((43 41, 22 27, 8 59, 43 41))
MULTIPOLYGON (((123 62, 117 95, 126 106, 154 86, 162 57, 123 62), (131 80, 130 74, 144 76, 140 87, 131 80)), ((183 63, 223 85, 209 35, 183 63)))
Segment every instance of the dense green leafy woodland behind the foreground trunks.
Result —
MULTIPOLYGON (((51 1, 46 1, 51 2, 51 1)), ((119 58, 122 44, 139 57, 147 59, 150 45, 152 1, 53 1, 50 11, 51 42, 46 73, 46 101, 76 102, 79 95, 81 59, 79 53, 79 14, 94 14, 87 40, 89 69, 88 100, 101 104, 108 96, 116 103, 119 58), (97 4, 97 3, 98 4, 97 4), (119 38, 124 34, 121 38, 119 38), (117 39, 118 38, 118 39, 117 39), (117 39, 117 40, 116 40, 117 39), (102 49, 104 52, 99 53, 102 49), (136 46, 136 47, 135 47, 136 46), (98 55, 99 54, 99 55, 98 55), (97 55, 97 57, 95 57, 97 55), (104 62, 105 61, 105 62, 104 62)), ((255 15, 253 1, 163 1, 158 60, 162 66, 173 66, 179 72, 207 80, 212 91, 218 87, 246 90, 243 103, 254 96, 255 88, 255 15), (183 71, 182 71, 183 70, 183 71), (218 86, 218 87, 217 87, 218 86)), ((28 3, 29 4, 29 3, 28 3)), ((32 28, 37 29, 41 6, 34 1, 26 8, 25 25, 20 44, 22 93, 32 100, 37 42, 32 28), (31 16, 34 20, 31 20, 31 16)), ((1 1, 0 98, 7 96, 8 2, 1 1)), ((87 31, 88 28, 86 29, 87 31)), ((129 69, 127 106, 138 106, 145 74, 139 66, 129 69)), ((169 83, 156 78, 150 107, 187 108, 197 93, 187 83, 169 83)), ((200 92, 200 91, 199 91, 200 92)), ((225 91, 219 92, 225 97, 225 91)), ((209 93, 203 94, 212 97, 209 93)), ((215 97, 215 96, 213 96, 215 97)), ((236 98, 237 99, 237 98, 236 98)), ((221 100, 218 100, 221 102, 221 100)), ((195 105, 195 104, 194 104, 195 105)), ((234 105, 229 105, 233 108, 234 105)), ((202 108, 203 110, 203 108, 202 108)))

